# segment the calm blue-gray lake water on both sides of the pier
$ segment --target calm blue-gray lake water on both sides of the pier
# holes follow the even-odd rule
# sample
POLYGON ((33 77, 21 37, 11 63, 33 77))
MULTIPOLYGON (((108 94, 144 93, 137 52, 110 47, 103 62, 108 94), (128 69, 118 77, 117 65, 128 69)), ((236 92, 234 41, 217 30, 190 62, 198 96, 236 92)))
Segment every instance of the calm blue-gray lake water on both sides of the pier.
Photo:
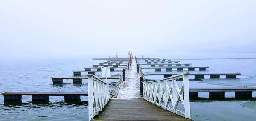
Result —
MULTIPOLYGON (((175 56, 175 58, 256 58, 256 54, 215 54, 175 56)), ((174 57, 162 57, 174 58, 174 57)), ((256 86, 256 59, 204 59, 180 60, 182 63, 193 63, 192 66, 209 66, 207 72, 241 72, 237 79, 204 79, 190 81, 190 87, 232 87, 256 86)), ((64 81, 63 85, 53 85, 50 77, 69 77, 72 70, 83 70, 84 66, 101 61, 85 59, 19 59, 0 60, 0 91, 41 91, 41 92, 87 92, 87 84, 74 85, 64 81)), ((160 79, 161 76, 150 76, 148 79, 160 79)), ((207 77, 206 77, 207 78, 207 77)), ((224 77, 222 77, 224 78, 224 77)), ((234 93, 226 93, 233 97, 234 93)), ((208 97, 208 93, 199 93, 208 97)), ((256 94, 253 92, 253 96, 256 94)), ((40 120, 76 120, 87 121, 87 97, 82 96, 79 104, 67 104, 64 97, 51 97, 50 104, 32 104, 31 96, 23 96, 22 104, 5 106, 0 95, 0 120, 3 121, 40 121, 40 120)), ((256 101, 192 101, 193 120, 253 121, 256 119, 256 101)))

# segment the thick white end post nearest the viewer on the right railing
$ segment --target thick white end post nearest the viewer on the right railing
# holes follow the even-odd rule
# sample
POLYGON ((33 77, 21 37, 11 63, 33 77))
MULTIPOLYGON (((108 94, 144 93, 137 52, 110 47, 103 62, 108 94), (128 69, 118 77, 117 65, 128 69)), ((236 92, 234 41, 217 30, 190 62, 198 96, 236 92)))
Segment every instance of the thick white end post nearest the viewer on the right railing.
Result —
POLYGON ((183 75, 185 117, 190 118, 189 75, 183 75))

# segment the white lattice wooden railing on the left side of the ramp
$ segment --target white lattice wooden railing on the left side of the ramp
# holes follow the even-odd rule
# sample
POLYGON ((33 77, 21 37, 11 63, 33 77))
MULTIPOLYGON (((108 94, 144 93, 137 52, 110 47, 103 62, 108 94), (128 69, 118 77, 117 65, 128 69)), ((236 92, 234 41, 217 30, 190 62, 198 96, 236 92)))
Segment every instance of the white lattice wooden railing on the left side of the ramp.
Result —
POLYGON ((88 75, 88 101, 89 101, 89 121, 105 107, 108 103, 109 83, 102 81, 93 74, 88 75))

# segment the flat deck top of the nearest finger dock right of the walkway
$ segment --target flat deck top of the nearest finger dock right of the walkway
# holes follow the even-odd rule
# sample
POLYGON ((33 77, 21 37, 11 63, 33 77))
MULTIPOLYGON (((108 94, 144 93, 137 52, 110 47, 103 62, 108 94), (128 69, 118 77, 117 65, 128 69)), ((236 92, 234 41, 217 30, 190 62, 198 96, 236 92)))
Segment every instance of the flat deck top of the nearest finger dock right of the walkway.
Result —
POLYGON ((250 92, 250 91, 256 91, 256 87, 189 88, 189 92, 250 92))

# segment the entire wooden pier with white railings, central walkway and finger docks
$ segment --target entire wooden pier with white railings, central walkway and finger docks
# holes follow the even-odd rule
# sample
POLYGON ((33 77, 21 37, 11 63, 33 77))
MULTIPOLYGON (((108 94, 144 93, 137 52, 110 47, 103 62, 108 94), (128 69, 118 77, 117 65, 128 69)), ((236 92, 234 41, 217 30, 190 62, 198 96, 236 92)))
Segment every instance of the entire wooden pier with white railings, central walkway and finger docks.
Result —
POLYGON ((5 101, 21 101, 23 95, 31 95, 33 101, 49 101, 49 96, 64 96, 65 101, 77 101, 80 100, 80 96, 88 96, 89 120, 95 121, 190 121, 190 98, 198 98, 198 92, 209 92, 209 99, 225 98, 225 92, 235 92, 236 99, 251 99, 252 92, 256 91, 256 87, 189 88, 189 75, 194 75, 195 78, 204 78, 204 75, 219 78, 220 75, 226 75, 226 78, 231 79, 240 75, 240 73, 205 73, 209 67, 193 67, 192 63, 180 63, 180 61, 160 58, 135 58, 135 60, 132 58, 93 58, 93 60, 106 61, 94 64, 93 67, 85 67, 84 71, 73 71, 73 77, 51 78, 53 82, 59 83, 63 83, 66 79, 71 79, 73 82, 87 79, 88 91, 5 92, 2 95, 5 101), (150 65, 150 67, 141 67, 143 65, 150 65), (102 71, 101 67, 110 67, 111 72, 120 73, 116 77, 108 78, 118 81, 113 90, 109 90, 110 84, 103 81, 105 78, 96 76, 96 72, 102 71), (156 72, 166 70, 166 73, 144 74, 143 69, 154 69, 156 72), (177 72, 172 72, 173 69, 177 69, 177 72), (195 69, 205 72, 195 73, 195 69), (179 73, 184 70, 194 73, 179 73), (86 75, 81 75, 82 72, 86 75), (164 78, 147 81, 145 76, 148 75, 163 75, 164 78), (181 86, 177 84, 177 81, 182 83, 181 86), (183 110, 180 110, 180 107, 183 110))

